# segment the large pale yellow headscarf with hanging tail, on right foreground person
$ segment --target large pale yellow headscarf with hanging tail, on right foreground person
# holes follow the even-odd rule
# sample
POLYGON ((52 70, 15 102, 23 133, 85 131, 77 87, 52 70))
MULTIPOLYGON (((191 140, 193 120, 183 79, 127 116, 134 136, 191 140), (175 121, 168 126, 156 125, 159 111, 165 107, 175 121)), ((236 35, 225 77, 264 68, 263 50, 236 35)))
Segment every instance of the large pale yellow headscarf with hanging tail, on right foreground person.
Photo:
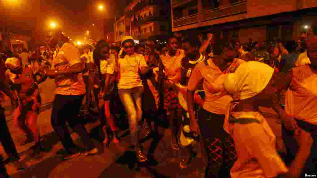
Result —
POLYGON ((223 85, 228 93, 232 95, 223 124, 224 130, 230 133, 229 116, 234 103, 241 99, 256 96, 268 85, 274 73, 274 69, 267 64, 249 61, 241 64, 234 73, 228 74, 223 85))

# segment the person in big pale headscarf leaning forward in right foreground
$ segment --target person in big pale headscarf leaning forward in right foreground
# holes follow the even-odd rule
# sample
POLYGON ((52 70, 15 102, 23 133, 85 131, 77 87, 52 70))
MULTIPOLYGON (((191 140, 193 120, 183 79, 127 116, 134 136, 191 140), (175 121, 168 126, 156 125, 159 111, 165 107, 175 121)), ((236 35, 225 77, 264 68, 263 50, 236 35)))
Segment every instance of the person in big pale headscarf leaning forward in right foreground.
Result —
MULTIPOLYGON (((289 176, 285 175, 288 168, 275 149, 275 135, 258 108, 279 103, 274 100, 276 76, 272 67, 249 61, 224 79, 224 87, 234 99, 224 123, 224 129, 234 139, 238 156, 230 170, 232 178, 289 176)), ((301 138, 300 145, 304 143, 302 140, 311 140, 305 133, 301 138)), ((293 162, 288 174, 298 176, 307 157, 305 152, 307 149, 300 152, 299 160, 293 162)))

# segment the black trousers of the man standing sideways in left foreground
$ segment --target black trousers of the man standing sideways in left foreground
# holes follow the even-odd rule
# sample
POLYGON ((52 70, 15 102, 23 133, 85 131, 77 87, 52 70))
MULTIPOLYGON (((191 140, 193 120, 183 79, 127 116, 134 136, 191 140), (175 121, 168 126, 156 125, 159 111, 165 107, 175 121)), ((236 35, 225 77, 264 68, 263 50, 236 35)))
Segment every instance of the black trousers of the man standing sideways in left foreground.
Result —
POLYGON ((84 95, 60 95, 55 94, 51 124, 56 134, 61 140, 65 150, 72 154, 76 151, 76 146, 70 136, 68 125, 81 137, 82 142, 88 150, 94 149, 94 143, 90 140, 83 118, 79 118, 79 111, 84 95))

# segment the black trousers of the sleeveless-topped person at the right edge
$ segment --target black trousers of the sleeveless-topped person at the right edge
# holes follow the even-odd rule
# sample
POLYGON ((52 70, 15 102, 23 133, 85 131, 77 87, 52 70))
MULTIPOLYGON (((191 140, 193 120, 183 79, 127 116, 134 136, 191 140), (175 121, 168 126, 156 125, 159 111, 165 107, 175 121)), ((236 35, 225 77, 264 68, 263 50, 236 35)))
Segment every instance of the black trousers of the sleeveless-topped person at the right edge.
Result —
MULTIPOLYGON (((317 126, 313 124, 309 124, 305 121, 295 119, 297 125, 309 132, 314 140, 312 148, 310 149, 310 155, 305 162, 305 166, 302 170, 301 177, 305 177, 305 174, 315 174, 316 169, 315 165, 317 162, 317 126)), ((294 138, 294 131, 290 131, 282 125, 282 137, 283 142, 285 144, 285 148, 287 150, 287 157, 289 158, 288 163, 294 160, 296 153, 298 151, 298 145, 294 138)))

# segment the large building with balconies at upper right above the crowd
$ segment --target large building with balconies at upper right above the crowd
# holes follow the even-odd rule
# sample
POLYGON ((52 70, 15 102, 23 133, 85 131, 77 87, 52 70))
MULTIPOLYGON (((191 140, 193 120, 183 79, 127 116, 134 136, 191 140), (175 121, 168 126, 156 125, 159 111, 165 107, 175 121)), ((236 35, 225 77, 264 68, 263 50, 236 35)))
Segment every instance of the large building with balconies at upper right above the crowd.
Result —
POLYGON ((242 43, 296 40, 317 19, 315 0, 171 0, 172 31, 222 33, 242 43))

